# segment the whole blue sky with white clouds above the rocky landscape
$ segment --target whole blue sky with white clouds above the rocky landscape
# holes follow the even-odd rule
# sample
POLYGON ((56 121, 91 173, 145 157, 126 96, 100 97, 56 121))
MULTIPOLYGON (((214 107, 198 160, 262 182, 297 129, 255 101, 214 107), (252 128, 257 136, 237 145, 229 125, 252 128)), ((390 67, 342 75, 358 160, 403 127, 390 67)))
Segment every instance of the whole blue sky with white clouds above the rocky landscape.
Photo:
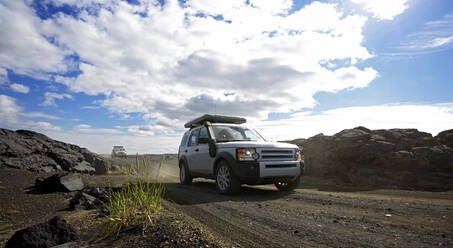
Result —
POLYGON ((453 128, 451 0, 0 0, 0 127, 174 153, 184 123, 269 140, 453 128))

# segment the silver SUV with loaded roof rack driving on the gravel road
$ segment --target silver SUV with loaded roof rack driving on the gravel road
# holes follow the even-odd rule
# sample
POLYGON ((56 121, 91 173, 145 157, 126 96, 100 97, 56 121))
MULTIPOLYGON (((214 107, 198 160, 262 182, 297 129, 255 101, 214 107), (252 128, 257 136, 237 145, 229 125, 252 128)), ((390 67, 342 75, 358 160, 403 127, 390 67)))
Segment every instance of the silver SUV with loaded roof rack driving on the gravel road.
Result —
POLYGON ((267 142, 243 124, 244 118, 203 115, 184 126, 178 152, 181 184, 195 177, 214 179, 222 194, 235 194, 241 184, 275 184, 290 191, 304 172, 299 148, 267 142))

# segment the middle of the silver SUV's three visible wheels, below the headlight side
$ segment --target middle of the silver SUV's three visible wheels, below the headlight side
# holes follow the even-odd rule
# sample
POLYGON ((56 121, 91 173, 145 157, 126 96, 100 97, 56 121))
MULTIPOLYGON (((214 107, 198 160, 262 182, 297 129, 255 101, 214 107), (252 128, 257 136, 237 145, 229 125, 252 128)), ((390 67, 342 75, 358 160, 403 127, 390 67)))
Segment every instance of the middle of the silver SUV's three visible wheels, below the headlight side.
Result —
POLYGON ((234 195, 241 191, 241 183, 234 175, 230 165, 225 161, 220 161, 215 172, 215 185, 220 194, 234 195))

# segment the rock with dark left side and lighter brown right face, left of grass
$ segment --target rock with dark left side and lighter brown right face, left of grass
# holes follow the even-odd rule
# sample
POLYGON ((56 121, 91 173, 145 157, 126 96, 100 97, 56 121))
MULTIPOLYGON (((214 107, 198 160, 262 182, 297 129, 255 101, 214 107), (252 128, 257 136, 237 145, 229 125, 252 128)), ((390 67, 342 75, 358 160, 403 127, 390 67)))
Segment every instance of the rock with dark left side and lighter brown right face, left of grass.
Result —
POLYGON ((41 192, 68 192, 82 190, 84 183, 80 174, 55 174, 47 178, 37 178, 34 188, 41 192))

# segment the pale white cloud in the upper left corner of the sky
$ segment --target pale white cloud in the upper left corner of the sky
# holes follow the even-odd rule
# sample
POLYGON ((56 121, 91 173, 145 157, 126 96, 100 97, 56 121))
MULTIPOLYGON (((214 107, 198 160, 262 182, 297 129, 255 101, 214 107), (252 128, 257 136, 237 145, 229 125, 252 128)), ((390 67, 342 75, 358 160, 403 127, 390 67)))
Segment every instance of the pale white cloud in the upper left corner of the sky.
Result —
POLYGON ((41 71, 67 69, 63 62, 68 51, 44 38, 41 27, 45 22, 23 1, 2 1, 0 13, 0 67, 36 77, 42 77, 41 71))

